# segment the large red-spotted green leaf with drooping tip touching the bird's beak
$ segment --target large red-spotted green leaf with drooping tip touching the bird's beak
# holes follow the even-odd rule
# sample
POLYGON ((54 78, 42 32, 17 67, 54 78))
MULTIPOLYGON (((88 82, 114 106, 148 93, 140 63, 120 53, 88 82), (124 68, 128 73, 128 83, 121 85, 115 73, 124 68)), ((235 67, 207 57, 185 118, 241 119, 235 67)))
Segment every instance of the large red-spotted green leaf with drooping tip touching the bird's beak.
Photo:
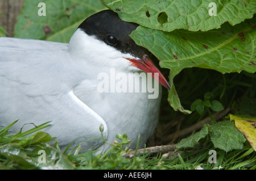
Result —
POLYGON ((225 23, 218 30, 163 32, 138 27, 132 39, 152 52, 162 68, 170 69, 168 100, 174 110, 189 113, 180 105, 173 79, 185 68, 205 68, 221 73, 256 71, 256 20, 250 19, 232 27, 225 23))

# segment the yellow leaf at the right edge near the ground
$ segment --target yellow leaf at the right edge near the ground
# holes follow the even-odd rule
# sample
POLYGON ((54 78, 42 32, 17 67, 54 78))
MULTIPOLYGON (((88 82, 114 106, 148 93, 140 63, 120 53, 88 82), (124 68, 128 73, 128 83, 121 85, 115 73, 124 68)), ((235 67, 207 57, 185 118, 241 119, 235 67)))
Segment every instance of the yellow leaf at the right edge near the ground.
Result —
POLYGON ((229 115, 230 120, 234 120, 237 129, 245 135, 251 147, 256 151, 256 118, 245 118, 229 115))

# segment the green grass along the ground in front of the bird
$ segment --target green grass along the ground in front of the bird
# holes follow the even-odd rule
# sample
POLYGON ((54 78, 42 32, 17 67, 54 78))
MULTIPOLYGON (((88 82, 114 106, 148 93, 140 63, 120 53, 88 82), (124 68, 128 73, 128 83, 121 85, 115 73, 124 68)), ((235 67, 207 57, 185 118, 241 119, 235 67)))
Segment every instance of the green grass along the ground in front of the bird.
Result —
MULTIPOLYGON (((16 122, 16 121, 15 121, 16 122)), ((13 124, 15 124, 15 122, 13 124)), ((13 125, 11 124, 11 125, 13 125)), ((41 129, 48 126, 42 124, 24 133, 9 134, 11 127, 1 129, 0 135, 0 169, 77 169, 77 170, 215 170, 230 169, 242 170, 256 168, 256 153, 246 143, 241 150, 233 150, 226 153, 223 150, 214 149, 208 138, 201 141, 200 146, 190 150, 181 150, 172 155, 167 154, 142 154, 133 158, 123 158, 122 154, 129 151, 125 148, 126 136, 121 137, 121 142, 112 146, 111 151, 94 155, 92 150, 79 153, 79 146, 75 154, 61 153, 57 142, 49 146, 48 142, 54 140, 41 129), (31 134, 32 136, 28 136, 31 134), (40 163, 41 154, 39 150, 46 151, 45 163, 40 163), (216 150, 217 159, 215 163, 209 163, 209 150, 216 150)), ((120 138, 120 137, 119 137, 120 138)), ((127 142, 126 142, 127 144, 127 142)))

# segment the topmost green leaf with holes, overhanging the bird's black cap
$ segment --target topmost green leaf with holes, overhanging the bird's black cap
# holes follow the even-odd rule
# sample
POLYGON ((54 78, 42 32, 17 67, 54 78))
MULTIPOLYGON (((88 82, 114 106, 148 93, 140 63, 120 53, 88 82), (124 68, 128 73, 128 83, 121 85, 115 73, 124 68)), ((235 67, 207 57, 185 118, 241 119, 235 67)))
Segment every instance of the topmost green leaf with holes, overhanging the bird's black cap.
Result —
POLYGON ((189 31, 208 31, 220 28, 224 22, 232 25, 241 23, 252 18, 256 12, 253 0, 101 1, 127 22, 162 31, 180 28, 189 31))

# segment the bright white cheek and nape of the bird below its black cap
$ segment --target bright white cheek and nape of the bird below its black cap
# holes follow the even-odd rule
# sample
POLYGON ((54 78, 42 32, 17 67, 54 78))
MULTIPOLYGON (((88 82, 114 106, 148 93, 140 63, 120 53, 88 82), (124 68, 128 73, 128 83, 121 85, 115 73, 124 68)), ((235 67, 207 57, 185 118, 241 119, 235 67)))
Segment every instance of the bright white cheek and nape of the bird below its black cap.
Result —
POLYGON ((86 35, 82 30, 77 31, 71 37, 68 52, 75 61, 77 69, 86 79, 97 79, 99 75, 140 71, 131 66, 131 62, 123 58, 123 54, 93 36, 86 35))

